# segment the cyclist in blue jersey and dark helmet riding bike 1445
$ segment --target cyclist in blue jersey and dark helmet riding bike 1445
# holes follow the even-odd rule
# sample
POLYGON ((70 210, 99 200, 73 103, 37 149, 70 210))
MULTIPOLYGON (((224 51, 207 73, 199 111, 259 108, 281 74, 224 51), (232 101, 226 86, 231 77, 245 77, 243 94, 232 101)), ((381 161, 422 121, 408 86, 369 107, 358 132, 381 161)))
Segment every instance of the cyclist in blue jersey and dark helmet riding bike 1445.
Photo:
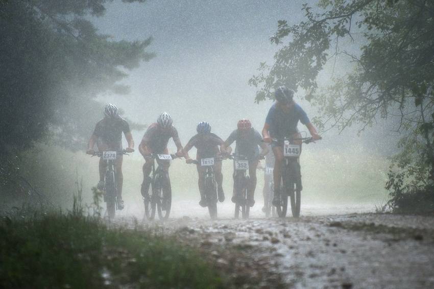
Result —
POLYGON ((306 112, 294 102, 294 90, 286 86, 279 86, 275 90, 276 102, 270 108, 266 122, 262 129, 262 137, 266 142, 271 142, 272 138, 280 139, 281 141, 272 143, 273 153, 275 157, 273 178, 274 178, 274 199, 273 205, 279 205, 280 202, 280 179, 282 177, 282 162, 283 162, 283 138, 299 137, 297 130, 298 122, 300 121, 307 127, 309 133, 314 140, 321 139, 315 127, 310 123, 306 112))

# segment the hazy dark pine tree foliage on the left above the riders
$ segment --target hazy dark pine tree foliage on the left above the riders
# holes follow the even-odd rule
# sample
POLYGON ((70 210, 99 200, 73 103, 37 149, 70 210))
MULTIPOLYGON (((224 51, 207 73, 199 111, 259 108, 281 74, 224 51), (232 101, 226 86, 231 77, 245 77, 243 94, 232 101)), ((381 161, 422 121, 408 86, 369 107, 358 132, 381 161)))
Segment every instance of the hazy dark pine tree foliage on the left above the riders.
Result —
MULTIPOLYGON (((144 41, 113 41, 86 19, 111 0, 27 0, 0 5, 0 154, 45 139, 82 149, 102 116, 100 93, 125 94, 125 70, 153 57, 144 41)), ((128 0, 124 2, 134 2, 128 0)), ((143 0, 137 0, 143 2, 143 0)))

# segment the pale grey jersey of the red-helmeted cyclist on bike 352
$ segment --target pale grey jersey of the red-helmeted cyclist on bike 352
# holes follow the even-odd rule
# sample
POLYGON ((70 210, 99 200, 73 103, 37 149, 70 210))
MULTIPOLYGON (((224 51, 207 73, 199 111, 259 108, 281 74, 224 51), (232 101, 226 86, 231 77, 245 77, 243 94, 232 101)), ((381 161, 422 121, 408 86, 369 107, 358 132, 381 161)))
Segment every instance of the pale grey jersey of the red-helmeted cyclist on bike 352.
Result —
POLYGON ((234 130, 226 140, 230 146, 235 141, 235 154, 243 155, 249 158, 256 158, 259 155, 259 148, 262 137, 259 132, 251 128, 246 135, 241 135, 239 130, 234 130))

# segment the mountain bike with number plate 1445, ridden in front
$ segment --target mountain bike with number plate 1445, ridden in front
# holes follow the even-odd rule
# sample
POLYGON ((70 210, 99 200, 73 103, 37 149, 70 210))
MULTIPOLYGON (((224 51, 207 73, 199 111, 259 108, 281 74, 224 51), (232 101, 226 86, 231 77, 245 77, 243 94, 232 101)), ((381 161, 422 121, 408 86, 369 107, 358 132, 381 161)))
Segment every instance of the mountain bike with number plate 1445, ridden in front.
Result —
POLYGON ((300 153, 301 144, 295 142, 310 143, 314 141, 311 137, 303 138, 284 138, 275 139, 273 142, 280 142, 283 140, 283 157, 282 164, 282 190, 280 193, 280 204, 276 206, 277 215, 280 218, 286 216, 288 207, 288 196, 291 199, 291 211, 294 218, 300 216, 301 205, 301 190, 303 186, 301 184, 301 172, 300 172, 300 153))

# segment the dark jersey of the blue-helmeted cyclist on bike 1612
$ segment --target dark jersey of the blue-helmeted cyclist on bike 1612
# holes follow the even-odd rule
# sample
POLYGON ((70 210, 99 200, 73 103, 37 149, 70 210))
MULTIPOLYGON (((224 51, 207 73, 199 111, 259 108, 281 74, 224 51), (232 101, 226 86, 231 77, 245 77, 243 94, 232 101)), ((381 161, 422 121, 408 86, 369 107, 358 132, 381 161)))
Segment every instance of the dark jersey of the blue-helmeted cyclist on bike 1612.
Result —
POLYGON ((198 159, 214 157, 220 152, 219 146, 223 143, 223 139, 213 133, 196 134, 190 138, 184 150, 188 152, 192 147, 195 147, 198 150, 198 159))

